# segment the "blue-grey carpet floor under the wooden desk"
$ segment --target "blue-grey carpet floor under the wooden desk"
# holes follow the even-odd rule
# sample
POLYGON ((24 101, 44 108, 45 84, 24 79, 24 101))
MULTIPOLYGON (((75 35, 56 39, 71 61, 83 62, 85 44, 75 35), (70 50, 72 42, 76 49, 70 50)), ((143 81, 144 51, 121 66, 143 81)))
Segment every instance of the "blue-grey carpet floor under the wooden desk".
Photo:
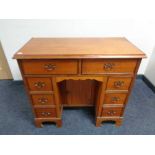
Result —
POLYGON ((96 128, 93 109, 78 108, 64 110, 62 128, 57 128, 54 124, 36 128, 23 83, 1 80, 0 134, 155 134, 155 94, 142 80, 136 80, 121 127, 104 123, 102 127, 96 128))

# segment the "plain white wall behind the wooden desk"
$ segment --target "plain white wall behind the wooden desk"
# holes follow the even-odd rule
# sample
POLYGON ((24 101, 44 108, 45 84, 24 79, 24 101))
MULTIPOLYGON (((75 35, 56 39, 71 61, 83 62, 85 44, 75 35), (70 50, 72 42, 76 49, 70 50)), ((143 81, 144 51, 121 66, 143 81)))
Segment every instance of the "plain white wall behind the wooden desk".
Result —
POLYGON ((13 54, 31 37, 124 36, 143 50, 139 74, 144 74, 155 45, 155 21, 134 20, 0 20, 0 41, 15 80, 21 75, 13 54))

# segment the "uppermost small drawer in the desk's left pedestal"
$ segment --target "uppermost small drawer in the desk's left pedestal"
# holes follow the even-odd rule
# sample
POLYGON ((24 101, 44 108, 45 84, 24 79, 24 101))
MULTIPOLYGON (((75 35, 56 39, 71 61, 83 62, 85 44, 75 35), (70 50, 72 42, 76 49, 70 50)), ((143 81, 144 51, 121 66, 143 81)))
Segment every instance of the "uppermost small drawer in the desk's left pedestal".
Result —
POLYGON ((31 91, 51 91, 52 81, 50 78, 27 78, 31 91))

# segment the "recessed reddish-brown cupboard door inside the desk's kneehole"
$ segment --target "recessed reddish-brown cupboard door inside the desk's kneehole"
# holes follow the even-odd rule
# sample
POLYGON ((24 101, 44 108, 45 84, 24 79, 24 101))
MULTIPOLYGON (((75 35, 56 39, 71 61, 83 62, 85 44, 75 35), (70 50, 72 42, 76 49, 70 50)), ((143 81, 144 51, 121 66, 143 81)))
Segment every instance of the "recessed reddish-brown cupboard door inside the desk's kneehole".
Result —
POLYGON ((68 107, 94 106, 96 84, 95 80, 65 80, 61 82, 62 104, 68 107))

